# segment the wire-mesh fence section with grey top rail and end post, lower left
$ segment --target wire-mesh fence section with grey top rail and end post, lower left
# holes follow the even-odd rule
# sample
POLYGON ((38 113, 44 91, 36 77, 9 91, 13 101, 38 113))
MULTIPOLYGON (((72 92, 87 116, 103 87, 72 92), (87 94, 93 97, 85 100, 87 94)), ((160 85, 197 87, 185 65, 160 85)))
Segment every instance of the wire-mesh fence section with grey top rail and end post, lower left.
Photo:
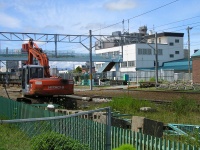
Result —
MULTIPOLYGON (((20 149, 23 149, 23 145, 33 147, 33 145, 39 144, 41 141, 35 143, 32 139, 39 138, 42 134, 48 133, 51 137, 51 134, 59 133, 65 135, 66 137, 70 137, 81 144, 88 145, 91 150, 108 150, 111 146, 109 134, 111 133, 111 126, 108 125, 109 119, 106 119, 106 124, 84 119, 85 115, 98 111, 105 111, 105 114, 108 114, 107 116, 109 116, 109 108, 102 108, 57 117, 2 120, 1 125, 9 125, 9 127, 14 130, 14 135, 12 135, 13 137, 20 135, 20 140, 17 141, 21 143, 21 145, 19 145, 20 149)), ((1 125, 0 128, 2 128, 1 125)), ((6 133, 6 131, 4 133, 6 133)), ((0 140, 5 139, 9 139, 9 137, 4 135, 4 139, 0 140)), ((41 138, 41 140, 45 139, 41 138)), ((56 147, 57 144, 63 144, 63 146, 65 145, 64 143, 53 143, 53 140, 54 139, 49 139, 48 141, 54 144, 52 147, 56 147)), ((10 144, 12 145, 13 143, 11 142, 10 144)), ((12 149, 12 146, 10 145, 6 145, 6 147, 12 149)))

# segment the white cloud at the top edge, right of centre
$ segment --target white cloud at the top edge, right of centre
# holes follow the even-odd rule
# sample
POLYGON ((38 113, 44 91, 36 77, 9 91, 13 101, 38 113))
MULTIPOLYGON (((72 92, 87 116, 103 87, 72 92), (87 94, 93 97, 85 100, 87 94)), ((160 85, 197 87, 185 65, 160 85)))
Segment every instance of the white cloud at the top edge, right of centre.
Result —
POLYGON ((105 4, 105 7, 109 10, 126 10, 136 7, 136 3, 133 0, 118 0, 105 4))

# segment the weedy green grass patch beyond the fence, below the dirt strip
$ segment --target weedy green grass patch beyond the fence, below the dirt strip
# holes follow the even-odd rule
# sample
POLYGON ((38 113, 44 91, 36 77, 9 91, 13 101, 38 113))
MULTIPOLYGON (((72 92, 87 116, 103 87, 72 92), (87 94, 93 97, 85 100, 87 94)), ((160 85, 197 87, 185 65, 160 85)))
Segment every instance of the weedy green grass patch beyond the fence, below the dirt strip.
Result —
POLYGON ((121 114, 143 116, 152 120, 163 122, 165 124, 200 124, 200 107, 197 107, 196 101, 186 97, 176 99, 173 101, 173 103, 168 105, 158 105, 148 101, 124 96, 113 98, 111 102, 100 104, 98 107, 101 108, 108 106, 111 107, 112 111, 119 111, 121 114), (151 107, 156 111, 141 112, 140 107, 151 107))

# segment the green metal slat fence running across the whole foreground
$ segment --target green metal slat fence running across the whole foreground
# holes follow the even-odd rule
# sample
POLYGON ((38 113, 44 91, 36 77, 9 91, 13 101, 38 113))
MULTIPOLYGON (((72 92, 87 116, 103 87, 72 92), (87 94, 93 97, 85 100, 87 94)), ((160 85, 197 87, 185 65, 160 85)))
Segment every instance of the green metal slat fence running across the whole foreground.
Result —
MULTIPOLYGON (((105 109, 61 116, 61 114, 35 108, 7 98, 1 97, 0 103, 0 116, 10 119, 0 121, 0 131, 2 126, 8 125, 9 129, 15 129, 13 134, 18 135, 17 133, 20 132, 20 138, 18 139, 20 142, 18 144, 25 143, 31 140, 32 137, 50 131, 69 136, 81 143, 87 144, 91 150, 110 150, 122 144, 134 145, 137 150, 200 150, 200 147, 197 146, 111 127, 109 125, 109 111, 105 112, 107 117, 106 121, 102 120, 104 123, 84 118, 85 115, 91 115, 96 111, 105 111, 105 109)), ((3 135, 2 138, 9 141, 10 138, 6 136, 7 134, 3 135)), ((9 144, 12 145, 13 143, 9 144)), ((30 145, 31 143, 28 142, 24 148, 27 149, 30 145)), ((9 149, 12 149, 11 147, 9 149)))

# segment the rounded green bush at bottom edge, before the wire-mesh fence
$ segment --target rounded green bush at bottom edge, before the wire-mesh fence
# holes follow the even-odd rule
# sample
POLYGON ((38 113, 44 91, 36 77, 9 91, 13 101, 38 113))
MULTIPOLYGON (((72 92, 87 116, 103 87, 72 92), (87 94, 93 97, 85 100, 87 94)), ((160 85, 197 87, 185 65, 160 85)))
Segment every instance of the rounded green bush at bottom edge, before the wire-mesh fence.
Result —
POLYGON ((35 136, 31 140, 32 150, 89 150, 87 145, 81 144, 65 135, 47 132, 35 136))

